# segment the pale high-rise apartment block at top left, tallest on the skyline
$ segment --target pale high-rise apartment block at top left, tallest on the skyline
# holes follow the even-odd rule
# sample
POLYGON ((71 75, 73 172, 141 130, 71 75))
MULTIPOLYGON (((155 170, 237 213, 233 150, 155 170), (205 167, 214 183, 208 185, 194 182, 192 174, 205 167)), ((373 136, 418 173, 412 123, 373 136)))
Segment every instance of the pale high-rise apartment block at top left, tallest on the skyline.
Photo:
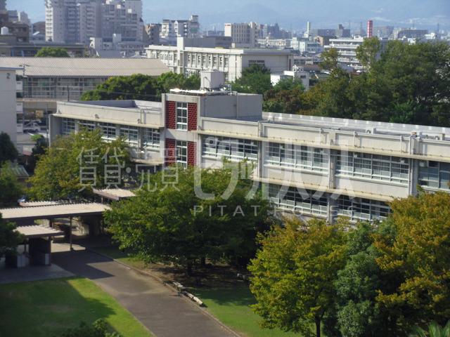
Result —
POLYGON ((46 40, 89 44, 91 37, 142 41, 141 0, 45 0, 46 40))

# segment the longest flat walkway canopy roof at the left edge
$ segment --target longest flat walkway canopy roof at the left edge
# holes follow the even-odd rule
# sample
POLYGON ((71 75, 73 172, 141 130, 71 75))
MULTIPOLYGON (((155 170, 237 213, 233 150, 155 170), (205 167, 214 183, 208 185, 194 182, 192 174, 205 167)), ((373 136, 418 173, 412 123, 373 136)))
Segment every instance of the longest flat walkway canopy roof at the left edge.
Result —
POLYGON ((0 209, 4 220, 38 220, 51 218, 68 218, 70 216, 101 216, 108 211, 109 206, 90 204, 60 204, 51 206, 18 207, 13 209, 0 209))

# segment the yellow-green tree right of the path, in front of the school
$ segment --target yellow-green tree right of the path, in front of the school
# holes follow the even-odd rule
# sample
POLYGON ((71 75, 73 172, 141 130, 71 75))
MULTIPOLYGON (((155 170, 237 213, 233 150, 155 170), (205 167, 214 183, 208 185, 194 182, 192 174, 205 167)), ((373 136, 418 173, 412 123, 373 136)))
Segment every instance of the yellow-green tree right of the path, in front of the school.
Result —
POLYGON ((248 269, 263 326, 311 336, 315 324, 321 336, 322 319, 335 301, 333 281, 345 265, 346 236, 343 223, 291 218, 260 239, 262 249, 248 269))

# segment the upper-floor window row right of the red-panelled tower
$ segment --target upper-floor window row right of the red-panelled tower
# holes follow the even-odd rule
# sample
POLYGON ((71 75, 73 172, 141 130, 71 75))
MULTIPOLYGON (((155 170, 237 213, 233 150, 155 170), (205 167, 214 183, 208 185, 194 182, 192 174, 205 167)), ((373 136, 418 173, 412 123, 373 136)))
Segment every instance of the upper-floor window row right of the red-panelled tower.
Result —
MULTIPOLYGON (((330 157, 335 159, 335 174, 366 178, 407 186, 411 159, 361 152, 334 151, 306 145, 266 143, 264 165, 283 169, 329 173, 330 157)), ((258 145, 252 140, 224 137, 203 138, 203 157, 232 161, 258 159, 258 145)), ((419 185, 450 190, 450 163, 419 161, 419 185)))

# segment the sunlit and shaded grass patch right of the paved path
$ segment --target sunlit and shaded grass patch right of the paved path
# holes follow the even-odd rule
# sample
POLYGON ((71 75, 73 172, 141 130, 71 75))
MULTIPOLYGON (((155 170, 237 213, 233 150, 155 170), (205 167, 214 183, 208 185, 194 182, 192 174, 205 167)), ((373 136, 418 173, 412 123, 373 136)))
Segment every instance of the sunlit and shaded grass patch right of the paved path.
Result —
POLYGON ((203 300, 207 310, 220 322, 245 336, 299 337, 298 333, 262 329, 259 326, 259 317, 250 308, 250 305, 255 303, 255 298, 247 286, 228 289, 196 289, 195 295, 203 300))

